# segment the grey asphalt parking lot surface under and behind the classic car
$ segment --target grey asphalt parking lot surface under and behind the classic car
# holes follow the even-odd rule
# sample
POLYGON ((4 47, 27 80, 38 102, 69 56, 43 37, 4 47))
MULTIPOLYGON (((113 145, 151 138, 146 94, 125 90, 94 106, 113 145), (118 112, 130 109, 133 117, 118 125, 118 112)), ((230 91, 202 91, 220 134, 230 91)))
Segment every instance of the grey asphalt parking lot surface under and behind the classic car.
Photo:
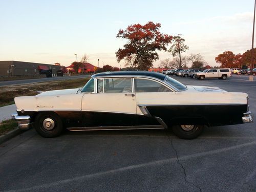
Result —
MULTIPOLYGON (((173 77, 173 76, 172 76, 173 77)), ((256 113, 256 77, 174 77, 246 92, 256 113)), ((255 123, 206 127, 194 140, 171 131, 29 130, 0 145, 0 191, 256 191, 255 123)))

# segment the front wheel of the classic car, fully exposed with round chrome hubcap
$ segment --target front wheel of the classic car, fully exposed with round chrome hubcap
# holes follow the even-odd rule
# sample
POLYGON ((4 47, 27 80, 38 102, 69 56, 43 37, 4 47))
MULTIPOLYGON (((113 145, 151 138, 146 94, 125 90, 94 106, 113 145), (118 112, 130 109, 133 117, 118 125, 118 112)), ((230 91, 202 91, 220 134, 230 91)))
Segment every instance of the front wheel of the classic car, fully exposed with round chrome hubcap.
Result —
POLYGON ((62 129, 62 121, 56 113, 45 112, 35 117, 35 130, 42 137, 57 137, 62 129))

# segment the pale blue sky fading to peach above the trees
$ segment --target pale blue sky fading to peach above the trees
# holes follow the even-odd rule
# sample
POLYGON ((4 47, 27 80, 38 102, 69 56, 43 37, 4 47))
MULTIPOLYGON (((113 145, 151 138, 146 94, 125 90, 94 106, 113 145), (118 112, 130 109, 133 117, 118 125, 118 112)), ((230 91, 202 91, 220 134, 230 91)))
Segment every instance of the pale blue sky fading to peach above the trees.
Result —
MULTIPOLYGON (((119 29, 149 21, 160 32, 182 34, 189 50, 200 53, 210 66, 224 51, 251 49, 253 0, 194 1, 54 1, 0 0, 0 60, 69 66, 84 54, 95 66, 124 67, 115 52, 127 42, 119 29)), ((172 58, 158 52, 159 60, 172 58)))

